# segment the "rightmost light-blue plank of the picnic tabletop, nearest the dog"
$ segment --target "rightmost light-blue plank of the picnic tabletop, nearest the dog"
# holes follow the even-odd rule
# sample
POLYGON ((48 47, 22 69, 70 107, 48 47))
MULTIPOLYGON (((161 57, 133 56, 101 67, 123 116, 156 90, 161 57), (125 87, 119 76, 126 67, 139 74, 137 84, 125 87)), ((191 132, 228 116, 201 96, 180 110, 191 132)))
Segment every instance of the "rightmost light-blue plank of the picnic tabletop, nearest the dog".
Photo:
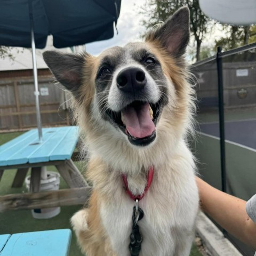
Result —
POLYGON ((76 143, 78 140, 78 132, 78 126, 70 127, 69 136, 63 138, 60 141, 58 148, 55 148, 52 151, 52 154, 50 156, 51 161, 70 159, 76 147, 76 143))

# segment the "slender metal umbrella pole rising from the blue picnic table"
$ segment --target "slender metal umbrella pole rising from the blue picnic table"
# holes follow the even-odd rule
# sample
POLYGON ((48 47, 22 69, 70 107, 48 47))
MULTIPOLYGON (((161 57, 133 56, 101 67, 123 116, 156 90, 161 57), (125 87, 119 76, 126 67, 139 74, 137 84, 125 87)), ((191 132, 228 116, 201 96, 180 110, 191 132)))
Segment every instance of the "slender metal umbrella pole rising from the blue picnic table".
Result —
POLYGON ((35 84, 35 100, 36 100, 36 119, 37 119, 37 128, 38 128, 38 137, 39 142, 43 141, 42 133, 42 122, 40 115, 40 106, 39 106, 39 91, 38 91, 38 80, 37 80, 37 65, 36 65, 36 45, 35 45, 35 36, 34 36, 34 22, 33 22, 33 10, 32 3, 29 0, 29 18, 30 18, 30 27, 31 27, 31 49, 32 49, 32 58, 33 58, 33 74, 34 74, 34 84, 35 84))

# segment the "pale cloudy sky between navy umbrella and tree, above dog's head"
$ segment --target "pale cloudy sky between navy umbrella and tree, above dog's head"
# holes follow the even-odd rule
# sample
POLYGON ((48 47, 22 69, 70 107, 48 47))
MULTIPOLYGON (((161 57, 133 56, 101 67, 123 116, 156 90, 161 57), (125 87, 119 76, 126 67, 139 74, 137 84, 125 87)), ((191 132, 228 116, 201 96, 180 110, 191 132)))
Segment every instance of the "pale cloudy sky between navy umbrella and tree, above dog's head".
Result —
POLYGON ((144 28, 141 26, 141 15, 138 14, 138 6, 144 3, 145 0, 122 0, 120 16, 117 21, 118 34, 115 29, 113 38, 86 44, 86 51, 98 55, 111 46, 123 46, 131 41, 141 41, 140 33, 144 31, 144 28))

